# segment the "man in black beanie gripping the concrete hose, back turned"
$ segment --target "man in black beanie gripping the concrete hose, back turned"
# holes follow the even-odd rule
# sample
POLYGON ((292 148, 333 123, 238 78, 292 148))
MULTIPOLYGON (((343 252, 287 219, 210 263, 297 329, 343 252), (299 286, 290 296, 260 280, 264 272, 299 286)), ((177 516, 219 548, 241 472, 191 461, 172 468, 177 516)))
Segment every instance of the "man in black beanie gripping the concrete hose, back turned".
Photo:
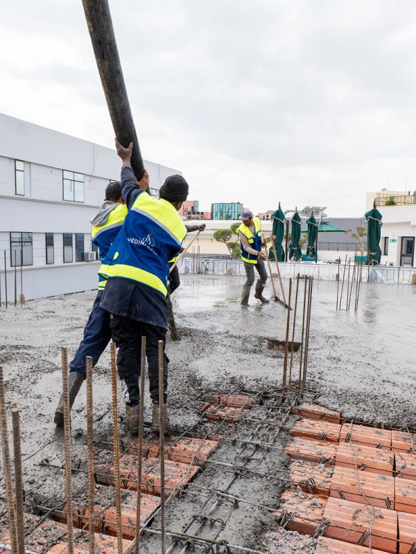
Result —
POLYGON ((130 166, 132 143, 124 148, 116 140, 123 162, 121 192, 128 214, 98 273, 107 278, 101 307, 110 312, 112 339, 119 349, 117 368, 125 385, 127 425, 131 434, 139 429, 139 372, 137 346, 146 337, 146 357, 153 402, 152 431, 173 429, 168 418, 166 389, 168 357, 164 354, 164 418, 161 422, 158 384, 158 342, 166 345, 168 260, 180 251, 187 230, 177 213, 188 196, 187 181, 171 175, 155 199, 139 190, 130 166))

